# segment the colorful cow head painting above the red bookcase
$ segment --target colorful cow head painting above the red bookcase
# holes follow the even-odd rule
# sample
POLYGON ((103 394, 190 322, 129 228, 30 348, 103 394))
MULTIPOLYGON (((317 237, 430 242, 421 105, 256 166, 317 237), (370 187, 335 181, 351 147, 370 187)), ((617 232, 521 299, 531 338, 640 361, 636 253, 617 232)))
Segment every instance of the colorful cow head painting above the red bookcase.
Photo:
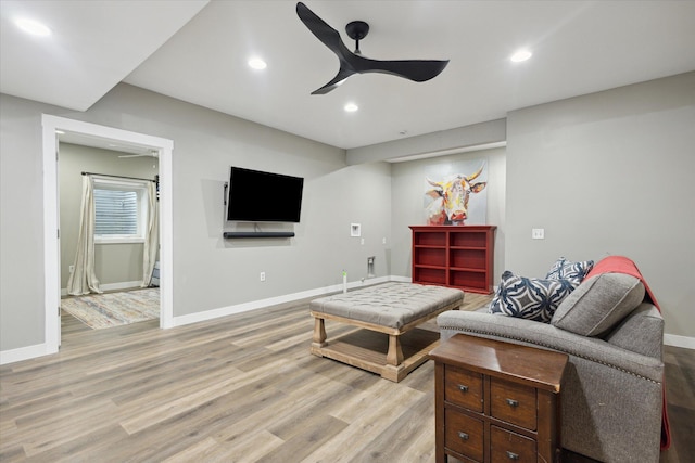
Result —
POLYGON ((488 160, 430 166, 425 177, 424 211, 428 226, 485 224, 488 160))

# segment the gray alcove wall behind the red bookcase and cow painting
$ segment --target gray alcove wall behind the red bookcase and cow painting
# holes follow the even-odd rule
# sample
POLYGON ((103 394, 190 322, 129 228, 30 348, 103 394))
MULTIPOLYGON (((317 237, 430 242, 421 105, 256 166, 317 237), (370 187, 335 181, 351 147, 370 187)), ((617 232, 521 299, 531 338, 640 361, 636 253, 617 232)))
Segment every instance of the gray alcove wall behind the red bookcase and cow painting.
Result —
MULTIPOLYGON (((497 284, 504 267, 505 255, 505 149, 473 151, 469 153, 410 160, 393 164, 393 216, 391 229, 393 233, 393 253, 391 257, 392 274, 412 276, 412 232, 408 226, 425 224, 422 197, 425 171, 432 166, 447 166, 469 159, 488 160, 488 219, 486 223, 497 226, 495 232, 494 284, 497 284)), ((475 197, 471 198, 471 202, 475 197)))

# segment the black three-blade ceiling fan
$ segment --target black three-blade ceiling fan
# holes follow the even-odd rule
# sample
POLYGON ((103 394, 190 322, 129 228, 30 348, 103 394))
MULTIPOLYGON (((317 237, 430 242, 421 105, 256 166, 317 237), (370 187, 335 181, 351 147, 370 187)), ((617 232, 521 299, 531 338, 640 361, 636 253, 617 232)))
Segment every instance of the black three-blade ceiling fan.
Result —
POLYGON ((340 69, 336 77, 324 87, 314 90, 312 94, 326 94, 353 74, 391 74, 416 82, 424 82, 437 77, 448 64, 448 60, 369 60, 363 57, 359 52, 359 40, 364 39, 369 31, 369 25, 364 21, 353 21, 345 26, 348 36, 356 42, 355 52, 353 53, 340 39, 338 30, 326 24, 304 3, 296 3, 296 14, 316 38, 336 53, 338 60, 340 60, 340 69))

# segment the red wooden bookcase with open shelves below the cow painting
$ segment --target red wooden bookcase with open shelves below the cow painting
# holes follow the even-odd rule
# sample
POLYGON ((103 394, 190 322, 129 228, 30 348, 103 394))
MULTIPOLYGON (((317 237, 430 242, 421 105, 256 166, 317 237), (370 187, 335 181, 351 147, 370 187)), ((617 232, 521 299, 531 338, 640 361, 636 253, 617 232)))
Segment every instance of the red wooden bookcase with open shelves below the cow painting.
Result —
POLYGON ((495 226, 410 226, 413 283, 492 293, 495 226))

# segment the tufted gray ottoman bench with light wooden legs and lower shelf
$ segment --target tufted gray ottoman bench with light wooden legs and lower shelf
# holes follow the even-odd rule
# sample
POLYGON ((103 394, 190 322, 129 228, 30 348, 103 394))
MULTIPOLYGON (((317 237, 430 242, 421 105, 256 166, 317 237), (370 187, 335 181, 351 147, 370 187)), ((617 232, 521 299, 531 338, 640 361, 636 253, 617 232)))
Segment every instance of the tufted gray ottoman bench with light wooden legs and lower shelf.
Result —
POLYGON ((384 283, 321 297, 309 304, 314 317, 311 351, 397 383, 427 361, 439 343, 439 332, 417 325, 463 303, 460 290, 412 283, 384 283), (327 340, 326 320, 356 330, 327 340))

